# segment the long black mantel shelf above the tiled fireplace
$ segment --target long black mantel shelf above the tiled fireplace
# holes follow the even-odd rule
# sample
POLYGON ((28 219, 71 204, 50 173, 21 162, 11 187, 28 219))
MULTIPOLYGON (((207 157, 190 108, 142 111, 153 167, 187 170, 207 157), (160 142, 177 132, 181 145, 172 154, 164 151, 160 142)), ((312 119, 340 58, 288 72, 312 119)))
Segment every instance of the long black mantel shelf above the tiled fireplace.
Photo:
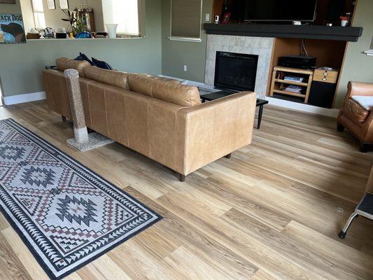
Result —
POLYGON ((357 42, 363 27, 327 27, 322 25, 216 25, 205 23, 207 34, 275 38, 305 38, 357 42))

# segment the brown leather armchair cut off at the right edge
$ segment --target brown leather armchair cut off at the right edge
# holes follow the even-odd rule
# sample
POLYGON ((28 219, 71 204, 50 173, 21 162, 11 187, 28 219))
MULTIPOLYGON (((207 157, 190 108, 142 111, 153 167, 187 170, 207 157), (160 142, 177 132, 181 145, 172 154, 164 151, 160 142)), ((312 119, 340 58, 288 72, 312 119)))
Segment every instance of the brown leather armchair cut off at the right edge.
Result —
POLYGON ((349 82, 348 91, 339 110, 337 130, 349 130, 360 141, 360 151, 367 152, 369 144, 373 144, 373 113, 360 106, 351 97, 372 96, 373 83, 349 82))

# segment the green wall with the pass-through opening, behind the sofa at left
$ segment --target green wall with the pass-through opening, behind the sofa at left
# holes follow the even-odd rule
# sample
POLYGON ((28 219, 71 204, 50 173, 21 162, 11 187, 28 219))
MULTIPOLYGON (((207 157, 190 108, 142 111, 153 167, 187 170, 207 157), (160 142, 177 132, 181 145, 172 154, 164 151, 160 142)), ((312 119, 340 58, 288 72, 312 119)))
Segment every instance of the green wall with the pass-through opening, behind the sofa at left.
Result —
MULTIPOLYGON (((161 0, 146 0, 146 38, 132 39, 71 39, 27 41, 24 44, 0 45, 0 78, 3 95, 13 96, 44 90, 41 71, 55 65, 56 57, 78 56, 104 60, 113 68, 134 73, 162 73, 161 0)), ((0 13, 4 13, 0 5, 0 13)), ((18 6, 19 7, 19 6, 18 6)), ((5 13, 17 13, 7 10, 5 13)), ((19 12, 18 12, 19 13, 19 12)))

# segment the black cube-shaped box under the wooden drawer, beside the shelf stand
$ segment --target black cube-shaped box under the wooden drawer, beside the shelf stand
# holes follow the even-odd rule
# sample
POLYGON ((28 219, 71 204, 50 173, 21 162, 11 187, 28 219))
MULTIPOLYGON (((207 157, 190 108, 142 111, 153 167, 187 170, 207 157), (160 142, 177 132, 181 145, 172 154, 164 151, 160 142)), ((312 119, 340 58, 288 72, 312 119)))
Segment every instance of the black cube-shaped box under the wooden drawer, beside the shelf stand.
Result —
POLYGON ((336 87, 337 84, 335 83, 324 83, 314 80, 311 92, 309 92, 308 103, 319 107, 332 108, 336 87))

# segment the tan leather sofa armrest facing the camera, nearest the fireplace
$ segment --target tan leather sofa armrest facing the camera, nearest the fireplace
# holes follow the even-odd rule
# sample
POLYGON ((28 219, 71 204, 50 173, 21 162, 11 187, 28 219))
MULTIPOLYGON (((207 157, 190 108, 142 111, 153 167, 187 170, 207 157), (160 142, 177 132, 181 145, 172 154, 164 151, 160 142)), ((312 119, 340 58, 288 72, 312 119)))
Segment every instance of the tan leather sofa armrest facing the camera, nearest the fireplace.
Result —
POLYGON ((176 171, 188 175, 251 144, 255 106, 255 92, 239 92, 180 109, 176 171))

